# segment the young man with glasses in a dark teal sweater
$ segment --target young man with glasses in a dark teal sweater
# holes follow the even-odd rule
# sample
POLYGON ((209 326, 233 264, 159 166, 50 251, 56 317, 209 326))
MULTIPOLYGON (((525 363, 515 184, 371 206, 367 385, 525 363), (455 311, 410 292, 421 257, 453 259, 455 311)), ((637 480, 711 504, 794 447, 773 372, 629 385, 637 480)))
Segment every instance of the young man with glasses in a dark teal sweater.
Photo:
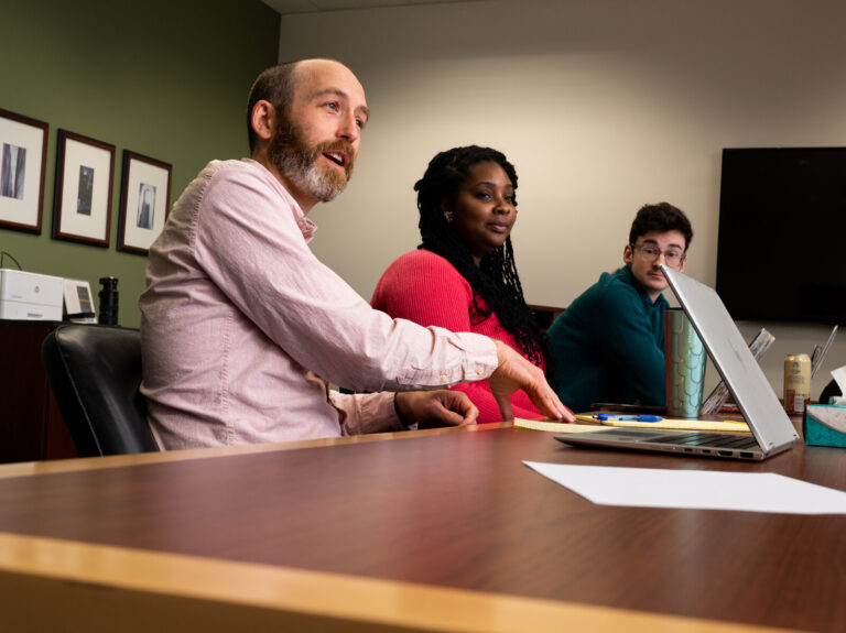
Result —
POLYGON ((550 328, 558 397, 574 411, 593 403, 665 404, 666 280, 684 272, 693 229, 668 203, 646 205, 631 225, 625 266, 603 273, 550 328))

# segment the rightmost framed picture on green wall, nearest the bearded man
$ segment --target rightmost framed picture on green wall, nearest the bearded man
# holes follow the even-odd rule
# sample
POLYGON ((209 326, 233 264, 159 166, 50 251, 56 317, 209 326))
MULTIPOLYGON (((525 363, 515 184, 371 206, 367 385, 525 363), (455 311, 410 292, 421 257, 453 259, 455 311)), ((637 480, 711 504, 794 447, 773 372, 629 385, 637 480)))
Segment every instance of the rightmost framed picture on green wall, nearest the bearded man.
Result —
POLYGON ((171 206, 171 165, 123 150, 118 250, 147 255, 171 206))

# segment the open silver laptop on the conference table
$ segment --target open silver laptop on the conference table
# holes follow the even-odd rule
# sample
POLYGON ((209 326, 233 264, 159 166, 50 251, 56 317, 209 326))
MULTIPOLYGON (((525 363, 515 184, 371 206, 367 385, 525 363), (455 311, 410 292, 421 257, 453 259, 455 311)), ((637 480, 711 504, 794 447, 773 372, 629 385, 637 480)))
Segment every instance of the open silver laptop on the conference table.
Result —
POLYGON ((712 362, 728 385, 752 437, 712 432, 615 427, 556 435, 555 439, 573 446, 755 460, 788 450, 799 441, 799 435, 723 301, 712 288, 679 271, 664 265, 661 271, 708 350, 712 362))

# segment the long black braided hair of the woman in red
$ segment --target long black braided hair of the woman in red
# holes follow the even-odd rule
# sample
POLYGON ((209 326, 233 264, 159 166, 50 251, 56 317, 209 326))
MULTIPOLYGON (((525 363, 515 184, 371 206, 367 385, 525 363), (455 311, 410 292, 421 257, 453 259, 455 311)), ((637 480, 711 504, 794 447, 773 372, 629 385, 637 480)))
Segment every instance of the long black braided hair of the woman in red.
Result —
MULTIPOLYGON (((441 152, 429 163, 423 177, 414 184, 420 209, 420 236, 426 249, 446 259, 467 280, 473 288, 470 323, 480 324, 496 313, 502 327, 517 340, 518 347, 534 364, 544 362, 552 368, 546 337, 541 332, 532 310, 525 305, 523 288, 514 264, 511 238, 496 251, 487 253, 476 265, 467 245, 460 241, 444 216, 442 204, 453 201, 470 167, 478 163, 495 162, 506 172, 517 189, 517 172, 505 154, 490 148, 469 145, 441 152), (476 301, 487 304, 482 309, 476 301)), ((513 201, 517 207, 517 198, 513 201)))

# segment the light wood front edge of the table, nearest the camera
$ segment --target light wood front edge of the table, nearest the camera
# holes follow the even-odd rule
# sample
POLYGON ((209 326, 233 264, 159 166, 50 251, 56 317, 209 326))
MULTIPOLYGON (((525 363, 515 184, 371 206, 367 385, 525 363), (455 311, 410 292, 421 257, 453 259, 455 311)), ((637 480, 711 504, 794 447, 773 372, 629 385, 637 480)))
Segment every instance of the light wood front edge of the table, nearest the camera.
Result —
MULTIPOLYGON (((0 587, 12 589, 21 577, 35 578, 47 592, 62 591, 82 608, 90 602, 97 616, 112 625, 109 604, 124 610, 134 601, 176 600, 180 609, 202 614, 204 609, 227 605, 260 614, 268 624, 305 620, 332 631, 359 631, 362 626, 408 631, 629 631, 752 633, 779 631, 757 625, 718 622, 679 615, 628 611, 449 589, 410 582, 361 578, 340 574, 220 560, 0 532, 0 587), (102 589, 117 592, 102 600, 102 589)), ((13 597, 4 592, 7 599, 13 597)), ((25 600, 4 600, 7 622, 40 618, 55 623, 61 613, 43 609, 33 613, 25 600), (25 610, 25 613, 21 612, 25 610), (17 612, 17 615, 15 615, 17 612)), ((127 612, 116 613, 126 620, 127 612)), ((119 620, 118 620, 119 621, 119 620)), ((212 631, 214 620, 212 622, 212 631)), ((74 622, 64 619, 68 631, 74 622)), ((90 622, 78 622, 79 629, 90 622)), ((161 621, 155 622, 161 626, 161 621)), ((229 630, 220 622, 217 630, 229 630)), ((143 627, 133 630, 144 630, 143 627)), ((151 629, 152 630, 152 629, 151 629)), ((324 630, 324 629, 322 629, 324 630)))

